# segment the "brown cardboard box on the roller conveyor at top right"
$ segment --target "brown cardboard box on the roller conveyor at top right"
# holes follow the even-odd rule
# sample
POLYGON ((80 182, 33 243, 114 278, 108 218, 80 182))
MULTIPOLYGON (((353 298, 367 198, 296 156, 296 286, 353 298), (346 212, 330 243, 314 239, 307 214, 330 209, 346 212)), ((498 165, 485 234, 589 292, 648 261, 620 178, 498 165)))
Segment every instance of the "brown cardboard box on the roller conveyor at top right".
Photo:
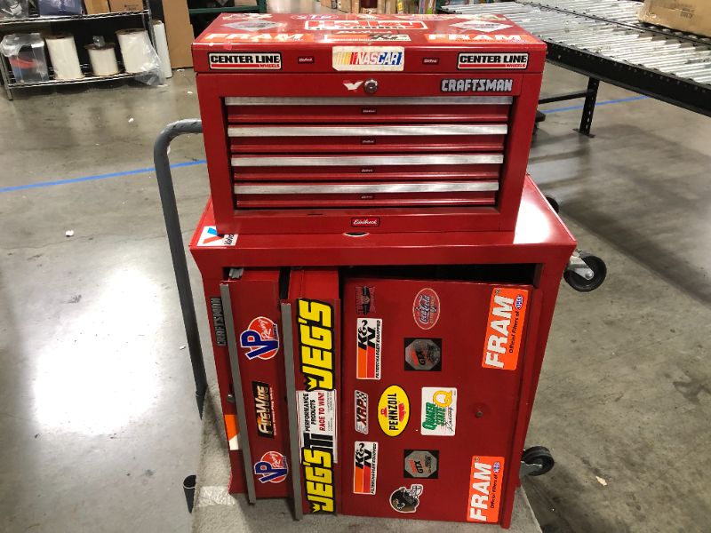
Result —
POLYGON ((711 36, 708 0, 645 0, 638 17, 649 24, 711 36))

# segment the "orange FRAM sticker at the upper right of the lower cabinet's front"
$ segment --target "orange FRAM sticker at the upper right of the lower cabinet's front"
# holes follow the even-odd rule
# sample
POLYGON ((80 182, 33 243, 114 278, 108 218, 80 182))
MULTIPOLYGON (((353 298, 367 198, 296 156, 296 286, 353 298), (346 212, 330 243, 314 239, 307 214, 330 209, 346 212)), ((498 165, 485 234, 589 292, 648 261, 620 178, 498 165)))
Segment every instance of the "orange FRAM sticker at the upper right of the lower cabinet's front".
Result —
POLYGON ((483 345, 483 368, 516 370, 528 298, 528 290, 515 287, 497 287, 491 292, 483 345))

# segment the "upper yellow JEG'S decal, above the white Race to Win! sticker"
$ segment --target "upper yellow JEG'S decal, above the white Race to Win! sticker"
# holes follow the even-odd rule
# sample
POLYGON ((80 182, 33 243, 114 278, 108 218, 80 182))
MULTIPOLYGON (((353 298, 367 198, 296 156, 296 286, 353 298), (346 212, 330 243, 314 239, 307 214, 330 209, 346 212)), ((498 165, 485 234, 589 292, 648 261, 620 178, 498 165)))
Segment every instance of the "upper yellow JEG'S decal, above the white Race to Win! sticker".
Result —
POLYGON ((333 390, 333 307, 305 298, 296 304, 300 370, 306 390, 333 390))

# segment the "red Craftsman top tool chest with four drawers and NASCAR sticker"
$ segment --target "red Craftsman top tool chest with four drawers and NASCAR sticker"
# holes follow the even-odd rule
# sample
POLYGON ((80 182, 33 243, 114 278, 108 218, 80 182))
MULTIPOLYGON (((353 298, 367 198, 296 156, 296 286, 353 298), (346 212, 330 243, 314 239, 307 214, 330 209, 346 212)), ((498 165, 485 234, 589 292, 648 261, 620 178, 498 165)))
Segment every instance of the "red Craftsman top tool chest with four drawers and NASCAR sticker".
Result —
POLYGON ((224 14, 193 57, 220 234, 514 230, 546 45, 505 17, 224 14))

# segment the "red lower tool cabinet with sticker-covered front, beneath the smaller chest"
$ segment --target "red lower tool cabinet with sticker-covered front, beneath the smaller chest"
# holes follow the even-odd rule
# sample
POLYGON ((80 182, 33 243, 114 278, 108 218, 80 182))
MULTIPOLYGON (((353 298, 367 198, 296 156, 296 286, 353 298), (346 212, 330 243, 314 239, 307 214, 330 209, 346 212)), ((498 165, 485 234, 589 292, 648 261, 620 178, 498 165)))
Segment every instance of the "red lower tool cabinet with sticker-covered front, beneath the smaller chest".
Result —
POLYGON ((230 490, 508 527, 574 245, 528 178, 515 232, 218 235, 208 203, 230 490))

